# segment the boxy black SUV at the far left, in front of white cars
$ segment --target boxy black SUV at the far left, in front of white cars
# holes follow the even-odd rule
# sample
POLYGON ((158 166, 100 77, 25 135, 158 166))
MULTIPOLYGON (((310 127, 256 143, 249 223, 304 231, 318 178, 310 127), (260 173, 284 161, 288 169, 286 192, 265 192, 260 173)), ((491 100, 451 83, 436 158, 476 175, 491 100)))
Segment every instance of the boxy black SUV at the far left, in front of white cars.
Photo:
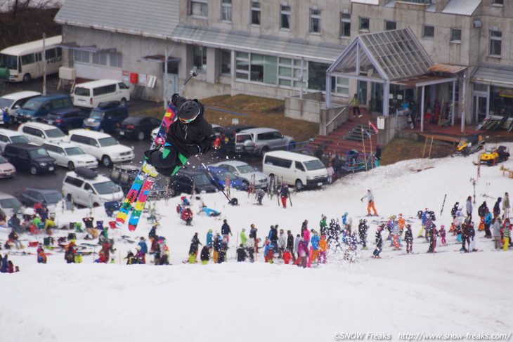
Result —
POLYGON ((48 155, 45 148, 26 143, 14 143, 6 146, 4 155, 18 170, 37 173, 55 172, 57 161, 48 155))

